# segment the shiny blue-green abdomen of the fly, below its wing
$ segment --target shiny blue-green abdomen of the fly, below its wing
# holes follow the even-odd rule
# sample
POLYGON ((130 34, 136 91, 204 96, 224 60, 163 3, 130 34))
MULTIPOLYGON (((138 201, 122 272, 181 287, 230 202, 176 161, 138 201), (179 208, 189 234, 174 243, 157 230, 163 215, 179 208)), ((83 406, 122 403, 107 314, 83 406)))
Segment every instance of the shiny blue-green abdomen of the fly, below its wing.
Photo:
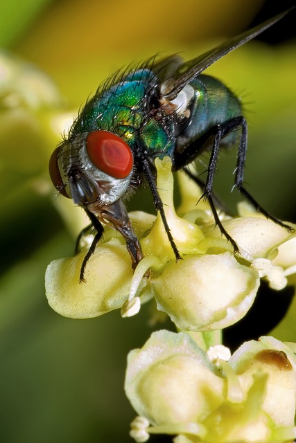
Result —
MULTIPOLYGON (((211 127, 218 123, 241 116, 241 102, 225 84, 209 75, 199 75, 190 82, 195 91, 191 104, 191 120, 186 129, 177 138, 177 147, 182 150, 211 127)), ((238 139, 238 132, 228 134, 223 145, 231 145, 238 139)))

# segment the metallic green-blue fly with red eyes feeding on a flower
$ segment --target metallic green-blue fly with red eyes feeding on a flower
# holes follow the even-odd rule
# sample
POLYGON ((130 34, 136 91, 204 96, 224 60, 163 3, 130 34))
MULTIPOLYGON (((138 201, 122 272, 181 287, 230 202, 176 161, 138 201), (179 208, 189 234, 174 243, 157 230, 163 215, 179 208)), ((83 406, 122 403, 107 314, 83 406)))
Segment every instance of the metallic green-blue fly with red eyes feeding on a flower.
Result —
POLYGON ((234 37, 189 62, 173 55, 160 62, 156 57, 131 71, 113 75, 85 104, 69 136, 51 156, 49 172, 55 188, 87 213, 96 230, 82 262, 83 280, 87 260, 109 224, 125 239, 135 268, 143 253, 123 200, 148 183, 176 260, 180 260, 155 181, 155 159, 171 156, 173 170, 184 169, 202 184, 214 220, 231 242, 238 245, 221 223, 215 207, 213 184, 221 147, 238 142, 234 187, 276 224, 292 230, 267 213, 243 186, 247 123, 240 100, 216 78, 202 72, 230 51, 270 28, 289 11, 234 37), (239 129, 239 131, 237 130, 239 129), (186 168, 200 154, 210 151, 207 179, 202 183, 186 168))

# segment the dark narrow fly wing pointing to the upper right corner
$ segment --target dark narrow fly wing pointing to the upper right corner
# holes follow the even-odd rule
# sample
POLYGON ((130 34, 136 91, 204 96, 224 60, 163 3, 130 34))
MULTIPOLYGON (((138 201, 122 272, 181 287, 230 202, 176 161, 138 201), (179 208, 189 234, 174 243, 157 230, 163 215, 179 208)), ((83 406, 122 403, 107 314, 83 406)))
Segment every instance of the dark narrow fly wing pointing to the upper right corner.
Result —
MULTIPOLYGON (((224 55, 228 54, 230 51, 234 51, 234 49, 263 33, 264 30, 270 28, 270 26, 274 25, 277 23, 277 21, 285 17, 285 15, 288 14, 288 12, 290 12, 292 9, 294 8, 290 8, 285 12, 281 12, 281 14, 275 15, 275 17, 272 17, 272 19, 268 19, 260 25, 254 26, 254 28, 245 31, 245 33, 241 33, 237 37, 234 37, 228 42, 211 49, 211 51, 208 51, 207 53, 199 55, 189 62, 175 65, 175 71, 171 71, 171 75, 168 75, 167 77, 173 77, 175 80, 168 82, 168 86, 166 87, 166 91, 164 93, 164 98, 166 98, 168 101, 176 98, 177 94, 180 93, 184 86, 186 86, 186 84, 191 82, 191 80, 194 78, 198 77, 198 75, 200 75, 204 69, 207 69, 209 66, 211 66, 211 64, 214 64, 217 60, 224 57, 224 55)), ((162 63, 164 62, 165 60, 162 63)))

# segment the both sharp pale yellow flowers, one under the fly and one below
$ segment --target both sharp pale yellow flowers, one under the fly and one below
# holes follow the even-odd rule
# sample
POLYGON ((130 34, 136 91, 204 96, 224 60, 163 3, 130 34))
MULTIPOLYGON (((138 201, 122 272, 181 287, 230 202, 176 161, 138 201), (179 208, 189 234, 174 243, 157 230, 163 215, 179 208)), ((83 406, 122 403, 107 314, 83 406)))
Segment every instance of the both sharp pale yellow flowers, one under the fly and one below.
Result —
POLYGON ((296 345, 261 337, 231 355, 216 332, 245 316, 261 278, 278 290, 293 281, 295 234, 241 206, 240 217, 220 214, 239 246, 234 255, 207 202, 196 206, 196 186, 180 179, 176 213, 171 160, 157 160, 156 166, 159 195, 183 260, 175 262, 159 215, 131 213, 145 255, 137 269, 131 269, 123 239, 107 228, 87 263, 86 284, 79 284, 79 274, 87 238, 78 255, 49 265, 49 304, 72 318, 113 309, 128 317, 155 298, 175 323, 180 332, 155 332, 128 356, 125 392, 139 414, 131 431, 137 442, 150 433, 174 435, 175 443, 292 441, 296 345))

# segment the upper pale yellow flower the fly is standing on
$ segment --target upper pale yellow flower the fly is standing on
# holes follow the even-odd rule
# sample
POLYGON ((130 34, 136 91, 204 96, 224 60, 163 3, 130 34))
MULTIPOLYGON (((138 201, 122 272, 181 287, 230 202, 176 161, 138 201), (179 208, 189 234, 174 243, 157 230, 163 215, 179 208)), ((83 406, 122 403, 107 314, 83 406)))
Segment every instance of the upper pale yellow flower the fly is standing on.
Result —
POLYGON ((131 213, 145 256, 134 273, 123 238, 107 228, 87 263, 86 283, 79 283, 79 274, 88 246, 76 257, 49 265, 49 304, 73 318, 99 316, 119 308, 123 316, 131 316, 137 314, 141 302, 155 297, 158 309, 179 329, 207 331, 232 325, 250 309, 260 277, 272 269, 277 248, 293 234, 265 218, 233 219, 221 214, 241 251, 234 256, 231 244, 214 227, 207 204, 202 202, 200 209, 196 208, 197 197, 190 186, 185 197, 183 193, 182 210, 187 213, 183 217, 175 213, 171 159, 155 163, 159 195, 182 260, 176 262, 159 215, 131 213))

